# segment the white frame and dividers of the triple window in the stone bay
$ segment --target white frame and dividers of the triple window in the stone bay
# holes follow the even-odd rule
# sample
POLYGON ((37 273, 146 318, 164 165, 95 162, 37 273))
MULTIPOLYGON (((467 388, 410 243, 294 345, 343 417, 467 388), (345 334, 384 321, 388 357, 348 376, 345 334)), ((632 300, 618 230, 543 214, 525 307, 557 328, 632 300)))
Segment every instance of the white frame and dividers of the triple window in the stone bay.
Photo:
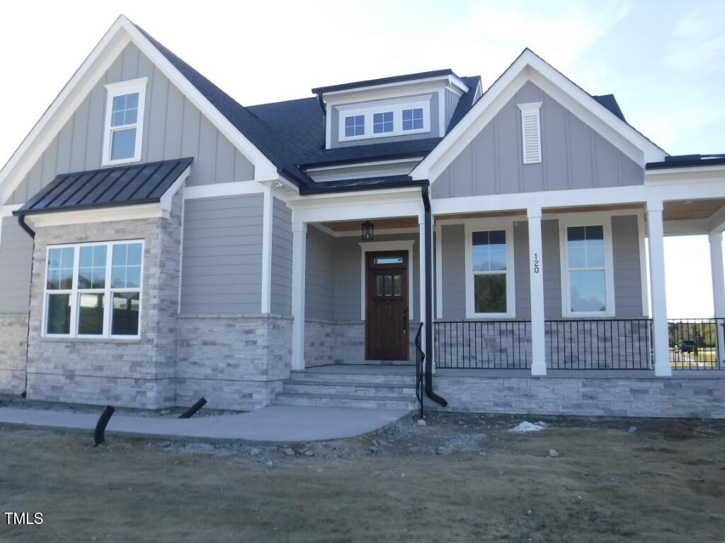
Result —
POLYGON ((42 337, 53 339, 83 339, 83 340, 117 340, 129 341, 139 340, 141 338, 142 319, 141 314, 144 311, 144 240, 117 240, 106 242, 91 243, 65 243, 62 245, 48 245, 46 247, 45 273, 43 274, 43 322, 42 337), (112 258, 113 247, 115 245, 127 245, 129 243, 141 243, 141 284, 138 288, 112 288, 112 258), (80 260, 81 247, 107 247, 106 251, 106 280, 102 289, 79 289, 78 288, 78 261, 80 260), (73 248, 73 277, 70 289, 48 290, 48 261, 51 249, 73 248), (112 319, 112 292, 136 292, 138 291, 138 333, 136 335, 112 335, 111 319, 112 319), (103 316, 103 334, 78 334, 78 298, 80 294, 104 294, 104 316, 103 316), (48 296, 53 294, 70 295, 70 333, 69 334, 49 334, 47 332, 48 324, 48 296))

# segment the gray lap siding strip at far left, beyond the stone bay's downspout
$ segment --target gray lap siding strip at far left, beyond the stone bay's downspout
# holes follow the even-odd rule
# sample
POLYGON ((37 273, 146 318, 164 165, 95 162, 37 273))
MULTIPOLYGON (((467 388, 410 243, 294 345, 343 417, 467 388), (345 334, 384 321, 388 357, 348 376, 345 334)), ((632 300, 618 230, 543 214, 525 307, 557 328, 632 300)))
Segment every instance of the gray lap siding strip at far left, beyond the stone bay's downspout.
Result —
POLYGON ((0 314, 28 313, 33 240, 15 217, 0 220, 0 314))

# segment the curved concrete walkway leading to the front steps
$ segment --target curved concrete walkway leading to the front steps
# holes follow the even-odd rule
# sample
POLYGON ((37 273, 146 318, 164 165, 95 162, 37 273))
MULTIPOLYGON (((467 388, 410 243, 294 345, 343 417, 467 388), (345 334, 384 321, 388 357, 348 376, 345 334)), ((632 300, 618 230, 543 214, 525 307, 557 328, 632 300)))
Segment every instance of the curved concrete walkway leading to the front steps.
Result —
MULTIPOLYGON (((0 424, 84 430, 93 434, 97 414, 0 408, 0 424)), ((406 416, 407 411, 271 405, 259 411, 196 418, 112 416, 106 434, 204 442, 299 442, 367 434, 406 416)), ((91 437, 92 439, 92 437, 91 437)))

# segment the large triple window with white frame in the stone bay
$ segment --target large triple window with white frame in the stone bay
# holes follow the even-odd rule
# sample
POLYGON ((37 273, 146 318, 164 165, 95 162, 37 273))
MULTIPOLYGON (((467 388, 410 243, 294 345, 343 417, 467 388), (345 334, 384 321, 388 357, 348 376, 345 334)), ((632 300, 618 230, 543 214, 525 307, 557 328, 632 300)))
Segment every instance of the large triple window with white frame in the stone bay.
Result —
POLYGON ((49 246, 44 334, 138 337, 144 243, 49 246))

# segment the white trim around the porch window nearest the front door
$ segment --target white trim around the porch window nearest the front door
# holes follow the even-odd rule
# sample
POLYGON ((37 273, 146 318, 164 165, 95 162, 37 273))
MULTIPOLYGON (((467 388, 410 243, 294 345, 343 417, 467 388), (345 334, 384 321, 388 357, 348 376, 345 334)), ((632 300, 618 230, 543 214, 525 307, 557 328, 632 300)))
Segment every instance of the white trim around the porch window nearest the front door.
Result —
POLYGON ((466 319, 514 319, 516 316, 513 221, 476 219, 465 222, 465 317, 466 319), (506 312, 476 313, 473 296, 473 232, 506 232, 506 312))

